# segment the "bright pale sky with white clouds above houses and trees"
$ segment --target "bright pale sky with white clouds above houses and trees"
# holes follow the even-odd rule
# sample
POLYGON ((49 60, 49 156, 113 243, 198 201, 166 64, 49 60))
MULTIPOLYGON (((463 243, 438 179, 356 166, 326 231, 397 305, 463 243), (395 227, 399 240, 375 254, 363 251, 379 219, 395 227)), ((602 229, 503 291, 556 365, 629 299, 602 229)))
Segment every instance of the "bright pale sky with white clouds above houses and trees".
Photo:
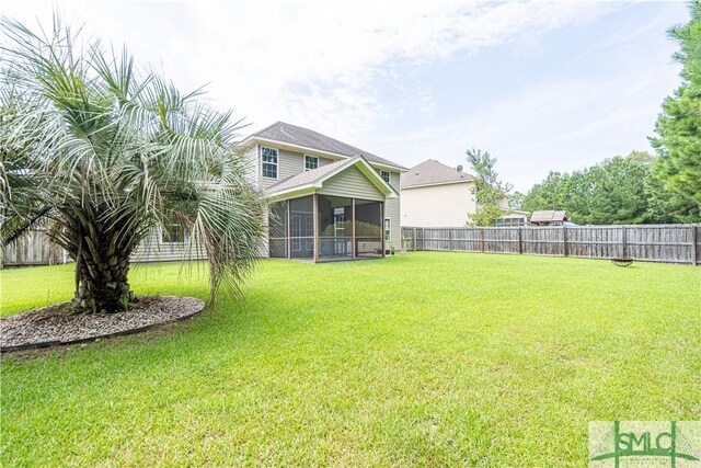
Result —
MULTIPOLYGON (((0 14, 126 45, 137 67, 232 110, 242 137, 312 128, 407 168, 497 158, 528 191, 632 150, 680 83, 666 31, 683 2, 27 1, 0 14)), ((2 41, 2 39, 0 39, 2 41)))

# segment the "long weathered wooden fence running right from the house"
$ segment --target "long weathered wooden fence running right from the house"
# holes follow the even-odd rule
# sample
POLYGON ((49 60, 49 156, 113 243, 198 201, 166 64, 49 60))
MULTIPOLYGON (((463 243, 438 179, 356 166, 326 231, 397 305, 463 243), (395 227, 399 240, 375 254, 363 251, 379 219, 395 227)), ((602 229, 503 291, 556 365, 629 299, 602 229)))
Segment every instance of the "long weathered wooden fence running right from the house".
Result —
POLYGON ((581 256, 701 264, 700 225, 414 228, 402 227, 406 250, 581 256))

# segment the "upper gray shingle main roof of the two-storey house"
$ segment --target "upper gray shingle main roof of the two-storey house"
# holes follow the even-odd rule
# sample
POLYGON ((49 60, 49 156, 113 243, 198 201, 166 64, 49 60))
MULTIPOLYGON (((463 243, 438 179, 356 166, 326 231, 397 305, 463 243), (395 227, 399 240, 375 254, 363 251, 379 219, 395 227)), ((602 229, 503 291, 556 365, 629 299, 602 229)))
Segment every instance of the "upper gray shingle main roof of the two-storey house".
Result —
POLYGON ((380 158, 379 156, 372 155, 371 152, 364 151, 359 148, 356 148, 343 141, 338 141, 337 139, 327 137, 318 132, 310 130, 309 128, 298 127, 297 125, 287 124, 285 122, 276 122, 269 127, 263 128, 262 130, 256 132, 251 136, 288 142, 291 145, 299 145, 311 149, 319 149, 322 151, 333 152, 335 155, 347 156, 349 158, 361 155, 369 162, 391 165, 392 168, 406 170, 406 168, 398 164, 397 162, 380 158))

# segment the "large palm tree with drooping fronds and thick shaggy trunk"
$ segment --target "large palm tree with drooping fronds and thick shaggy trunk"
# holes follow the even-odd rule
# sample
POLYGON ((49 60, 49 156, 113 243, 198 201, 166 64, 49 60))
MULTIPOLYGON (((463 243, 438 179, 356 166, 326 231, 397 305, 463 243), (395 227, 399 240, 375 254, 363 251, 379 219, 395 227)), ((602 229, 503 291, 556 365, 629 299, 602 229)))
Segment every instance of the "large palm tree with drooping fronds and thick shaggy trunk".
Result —
POLYGON ((0 28, 0 186, 3 244, 38 220, 76 261, 74 309, 114 311, 134 299, 129 255, 177 222, 204 249, 210 300, 239 292, 263 233, 263 207, 235 150, 240 122, 139 73, 123 50, 83 45, 55 19, 35 34, 0 28), (81 44, 79 46, 79 44, 81 44))

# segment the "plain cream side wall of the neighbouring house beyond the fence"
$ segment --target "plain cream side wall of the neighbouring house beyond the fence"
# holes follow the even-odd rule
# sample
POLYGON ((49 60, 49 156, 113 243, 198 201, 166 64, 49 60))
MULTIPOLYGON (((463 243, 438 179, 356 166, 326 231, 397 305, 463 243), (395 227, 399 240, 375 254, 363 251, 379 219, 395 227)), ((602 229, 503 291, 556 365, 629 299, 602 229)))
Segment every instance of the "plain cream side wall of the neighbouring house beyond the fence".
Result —
POLYGON ((474 214, 473 183, 433 185, 402 190, 402 226, 459 227, 474 214))

